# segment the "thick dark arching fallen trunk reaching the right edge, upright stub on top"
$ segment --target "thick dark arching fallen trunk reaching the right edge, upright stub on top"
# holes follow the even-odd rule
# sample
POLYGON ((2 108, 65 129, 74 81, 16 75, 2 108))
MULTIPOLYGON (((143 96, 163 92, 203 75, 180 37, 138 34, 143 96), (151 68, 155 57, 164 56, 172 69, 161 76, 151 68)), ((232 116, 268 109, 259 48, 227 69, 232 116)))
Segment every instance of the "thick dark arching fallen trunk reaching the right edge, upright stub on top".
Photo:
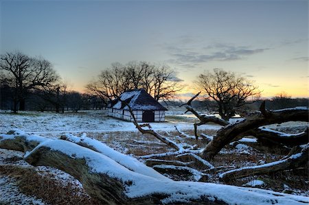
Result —
POLYGON ((286 121, 308 121, 308 108, 287 108, 282 110, 269 111, 265 109, 265 101, 257 114, 247 117, 238 123, 233 123, 221 128, 214 140, 212 140, 203 150, 201 156, 211 160, 220 150, 237 136, 242 135, 248 130, 259 128, 262 125, 274 123, 284 123, 286 121))

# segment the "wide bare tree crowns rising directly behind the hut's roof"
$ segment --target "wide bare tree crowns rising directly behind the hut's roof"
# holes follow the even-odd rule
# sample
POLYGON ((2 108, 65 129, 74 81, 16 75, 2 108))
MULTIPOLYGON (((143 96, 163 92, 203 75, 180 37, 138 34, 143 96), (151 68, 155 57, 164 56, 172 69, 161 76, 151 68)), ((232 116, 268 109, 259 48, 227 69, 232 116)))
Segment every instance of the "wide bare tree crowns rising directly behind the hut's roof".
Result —
POLYGON ((155 66, 147 62, 128 62, 123 66, 116 62, 102 71, 98 80, 87 84, 89 93, 108 100, 136 88, 144 88, 156 100, 166 100, 180 90, 179 78, 167 66, 155 66))

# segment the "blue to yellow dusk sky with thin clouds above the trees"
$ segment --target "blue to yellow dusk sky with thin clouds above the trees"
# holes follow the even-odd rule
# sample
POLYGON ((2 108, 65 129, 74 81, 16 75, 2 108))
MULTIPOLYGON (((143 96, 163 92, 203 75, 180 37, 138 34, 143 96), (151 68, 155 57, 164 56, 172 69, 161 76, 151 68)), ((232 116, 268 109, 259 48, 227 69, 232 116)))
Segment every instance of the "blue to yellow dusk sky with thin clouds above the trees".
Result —
POLYGON ((113 62, 167 64, 192 95, 214 68, 262 97, 309 97, 308 1, 3 1, 0 52, 43 56, 80 92, 113 62))

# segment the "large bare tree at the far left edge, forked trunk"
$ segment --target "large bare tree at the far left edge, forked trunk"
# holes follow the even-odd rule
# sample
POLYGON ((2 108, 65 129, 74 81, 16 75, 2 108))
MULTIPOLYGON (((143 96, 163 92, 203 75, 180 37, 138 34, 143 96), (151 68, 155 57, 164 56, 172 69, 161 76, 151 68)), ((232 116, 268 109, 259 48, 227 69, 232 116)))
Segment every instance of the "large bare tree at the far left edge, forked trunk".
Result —
POLYGON ((18 104, 19 110, 25 110, 25 99, 31 89, 50 86, 59 79, 49 61, 31 58, 19 51, 1 55, 0 70, 13 88, 14 112, 18 104))

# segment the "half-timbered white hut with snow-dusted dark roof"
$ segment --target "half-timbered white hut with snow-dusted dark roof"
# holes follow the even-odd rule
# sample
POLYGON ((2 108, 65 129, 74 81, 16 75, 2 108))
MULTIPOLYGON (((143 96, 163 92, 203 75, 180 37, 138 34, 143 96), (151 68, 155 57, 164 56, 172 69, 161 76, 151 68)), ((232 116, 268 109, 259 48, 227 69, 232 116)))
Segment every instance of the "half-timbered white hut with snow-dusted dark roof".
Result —
POLYGON ((108 104, 108 116, 133 121, 128 106, 123 101, 133 110, 135 119, 138 122, 161 122, 165 120, 165 110, 168 109, 159 104, 144 89, 126 91, 119 98, 111 101, 108 104))

